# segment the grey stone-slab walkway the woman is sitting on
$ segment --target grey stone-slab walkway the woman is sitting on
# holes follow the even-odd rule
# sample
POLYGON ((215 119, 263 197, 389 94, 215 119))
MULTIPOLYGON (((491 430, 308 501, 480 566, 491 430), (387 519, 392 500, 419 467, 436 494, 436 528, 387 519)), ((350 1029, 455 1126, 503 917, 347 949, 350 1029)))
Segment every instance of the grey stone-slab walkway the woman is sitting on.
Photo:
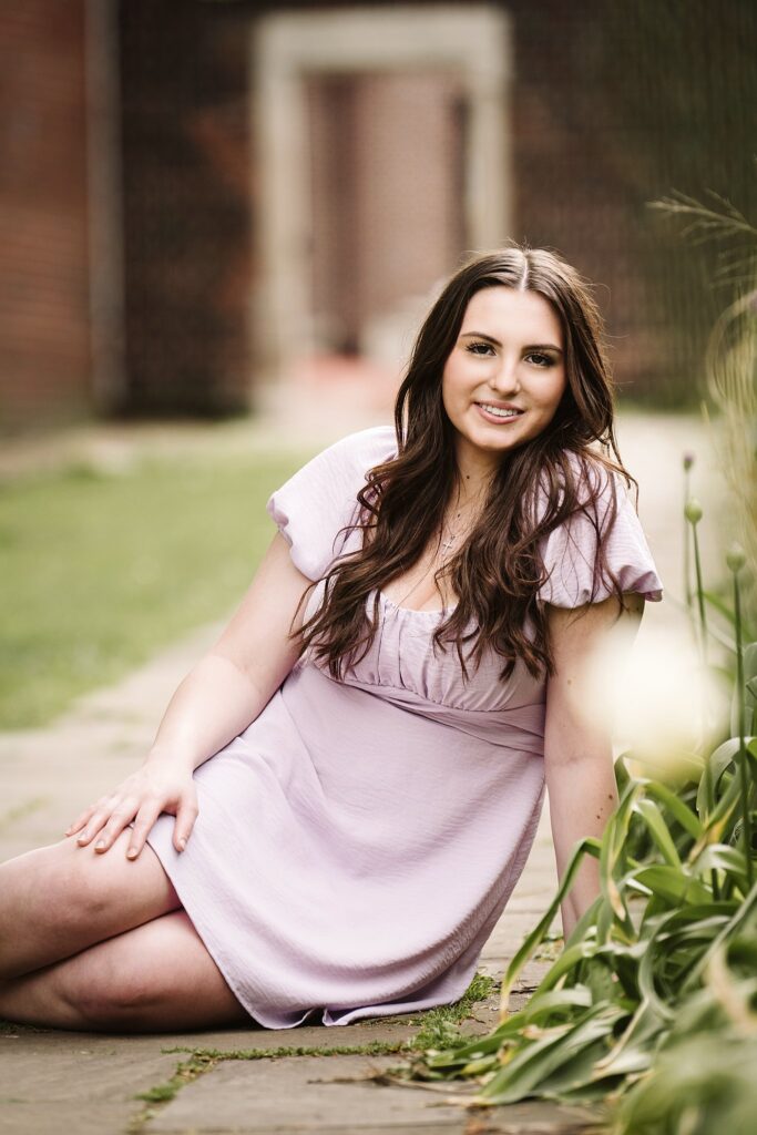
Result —
MULTIPOLYGON (((624 459, 641 485, 641 515, 663 579, 680 596, 680 456, 700 454, 698 495, 722 498, 701 427, 692 420, 628 418, 621 424, 624 459)), ((674 602, 649 608, 647 621, 680 621, 674 602), (667 609, 665 609, 667 608, 667 609)), ((57 839, 81 808, 120 780, 142 758, 173 690, 218 628, 203 628, 112 689, 83 698, 49 729, 0 734, 0 856, 57 839)), ((644 633, 644 630, 642 630, 644 633)), ((556 885, 547 812, 511 902, 481 959, 499 978, 523 935, 546 909, 556 885)), ((522 1002, 546 968, 530 964, 515 1000, 522 1002)), ((279 1046, 362 1046, 402 1041, 419 1017, 295 1031, 123 1037, 61 1034, 5 1026, 0 1031, 0 1133, 295 1133, 318 1135, 487 1135, 584 1130, 588 1112, 542 1103, 470 1112, 438 1093, 379 1086, 365 1077, 396 1057, 308 1056, 221 1059, 185 1073, 166 1102, 141 1093, 163 1085, 195 1049, 236 1054, 279 1046), (194 1071, 202 1071, 192 1078, 194 1071)), ((465 1025, 486 1032, 496 1020, 496 997, 476 1007, 465 1025)), ((196 1063, 196 1062, 195 1062, 196 1063)), ((154 1093, 153 1093, 154 1094, 154 1093)), ((158 1093, 160 1094, 160 1093, 158 1093)), ((165 1093, 169 1094, 169 1093, 165 1093)))

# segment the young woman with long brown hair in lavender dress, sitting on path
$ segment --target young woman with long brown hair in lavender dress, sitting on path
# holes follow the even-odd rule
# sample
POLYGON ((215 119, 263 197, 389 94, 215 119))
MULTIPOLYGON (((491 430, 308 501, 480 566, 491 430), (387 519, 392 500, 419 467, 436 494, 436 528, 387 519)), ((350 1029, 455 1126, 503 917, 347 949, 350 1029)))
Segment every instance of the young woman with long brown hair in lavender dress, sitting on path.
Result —
MULTIPOLYGON (((661 597, 623 472, 577 272, 518 247, 463 267, 395 429, 271 497, 280 531, 144 765, 0 868, 0 1016, 281 1028, 459 998, 545 775, 561 874, 616 802, 582 670, 661 597)), ((587 863, 566 934, 597 893, 587 863)))

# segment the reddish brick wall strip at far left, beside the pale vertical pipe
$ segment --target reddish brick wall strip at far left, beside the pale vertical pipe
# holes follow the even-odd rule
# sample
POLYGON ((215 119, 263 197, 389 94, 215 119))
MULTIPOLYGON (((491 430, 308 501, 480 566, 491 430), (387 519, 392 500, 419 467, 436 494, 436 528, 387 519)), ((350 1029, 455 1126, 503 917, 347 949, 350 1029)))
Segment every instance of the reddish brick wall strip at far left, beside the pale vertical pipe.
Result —
POLYGON ((84 0, 0 6, 0 430, 90 400, 84 0))

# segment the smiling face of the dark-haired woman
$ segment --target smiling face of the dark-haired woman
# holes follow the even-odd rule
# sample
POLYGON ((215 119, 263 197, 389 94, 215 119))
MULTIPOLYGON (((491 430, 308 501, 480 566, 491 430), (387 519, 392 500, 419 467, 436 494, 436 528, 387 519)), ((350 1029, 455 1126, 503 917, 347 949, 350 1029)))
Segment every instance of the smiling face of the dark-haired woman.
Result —
POLYGON ((445 363, 441 400, 459 464, 496 465, 552 421, 565 390, 560 318, 537 292, 477 292, 445 363))

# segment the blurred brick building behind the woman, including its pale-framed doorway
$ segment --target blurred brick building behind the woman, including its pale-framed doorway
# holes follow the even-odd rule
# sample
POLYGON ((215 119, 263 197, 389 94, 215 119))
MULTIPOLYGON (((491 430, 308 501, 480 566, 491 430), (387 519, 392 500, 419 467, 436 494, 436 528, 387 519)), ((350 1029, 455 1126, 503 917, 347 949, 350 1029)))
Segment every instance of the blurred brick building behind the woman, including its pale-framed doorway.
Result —
POLYGON ((647 202, 755 207, 755 47, 747 0, 3 5, 0 429, 394 381, 511 237, 604 285, 624 386, 690 396, 723 293, 647 202))

